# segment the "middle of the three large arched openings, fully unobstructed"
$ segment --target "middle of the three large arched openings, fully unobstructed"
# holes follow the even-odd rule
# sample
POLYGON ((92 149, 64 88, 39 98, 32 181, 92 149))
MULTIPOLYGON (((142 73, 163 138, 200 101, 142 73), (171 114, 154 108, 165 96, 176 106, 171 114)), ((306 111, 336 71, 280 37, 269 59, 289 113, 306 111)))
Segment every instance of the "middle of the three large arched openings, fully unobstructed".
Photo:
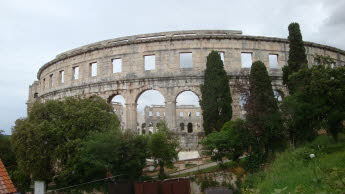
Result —
POLYGON ((137 122, 149 123, 146 132, 154 133, 157 129, 156 123, 164 120, 165 99, 157 90, 146 90, 137 99, 137 122))

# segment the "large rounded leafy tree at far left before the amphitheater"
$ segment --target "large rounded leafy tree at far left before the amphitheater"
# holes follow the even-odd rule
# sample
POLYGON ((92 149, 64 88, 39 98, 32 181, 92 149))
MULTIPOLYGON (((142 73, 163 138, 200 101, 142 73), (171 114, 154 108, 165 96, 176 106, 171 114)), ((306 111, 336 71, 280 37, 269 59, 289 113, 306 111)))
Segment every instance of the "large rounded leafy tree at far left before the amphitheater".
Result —
POLYGON ((51 181, 70 168, 76 152, 91 132, 118 130, 113 108, 100 97, 68 97, 36 102, 27 118, 13 128, 19 170, 33 180, 51 181))

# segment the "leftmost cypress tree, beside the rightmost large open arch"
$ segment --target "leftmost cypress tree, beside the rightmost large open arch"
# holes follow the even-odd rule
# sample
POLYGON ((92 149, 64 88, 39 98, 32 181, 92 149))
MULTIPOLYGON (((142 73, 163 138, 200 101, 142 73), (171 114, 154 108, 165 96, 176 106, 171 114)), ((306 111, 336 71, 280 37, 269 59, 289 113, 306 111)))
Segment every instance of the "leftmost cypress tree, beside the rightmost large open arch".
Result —
POLYGON ((216 51, 212 51, 207 56, 201 94, 203 127, 207 135, 213 131, 219 131, 223 124, 232 117, 229 78, 224 70, 223 61, 216 51))

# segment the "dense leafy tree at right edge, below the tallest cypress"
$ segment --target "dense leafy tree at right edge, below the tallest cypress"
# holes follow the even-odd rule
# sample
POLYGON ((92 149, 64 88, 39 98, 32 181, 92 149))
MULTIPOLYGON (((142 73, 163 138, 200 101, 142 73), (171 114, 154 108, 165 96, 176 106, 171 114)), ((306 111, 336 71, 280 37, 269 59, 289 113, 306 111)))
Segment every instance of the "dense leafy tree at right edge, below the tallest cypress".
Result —
POLYGON ((331 68, 334 61, 329 57, 316 57, 318 65, 290 77, 292 83, 300 84, 282 106, 290 138, 297 143, 313 140, 319 129, 327 129, 335 140, 344 131, 345 67, 331 68))

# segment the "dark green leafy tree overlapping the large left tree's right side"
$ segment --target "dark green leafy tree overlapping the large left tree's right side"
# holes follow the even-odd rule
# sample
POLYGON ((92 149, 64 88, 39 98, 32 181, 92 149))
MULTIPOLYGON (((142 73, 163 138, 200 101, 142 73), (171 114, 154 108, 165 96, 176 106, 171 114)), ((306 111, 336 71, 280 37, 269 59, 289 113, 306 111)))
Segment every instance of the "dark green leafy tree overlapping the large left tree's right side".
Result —
POLYGON ((84 183, 107 174, 134 180, 141 176, 148 153, 148 139, 130 132, 92 133, 78 149, 73 165, 56 179, 59 185, 84 183))

